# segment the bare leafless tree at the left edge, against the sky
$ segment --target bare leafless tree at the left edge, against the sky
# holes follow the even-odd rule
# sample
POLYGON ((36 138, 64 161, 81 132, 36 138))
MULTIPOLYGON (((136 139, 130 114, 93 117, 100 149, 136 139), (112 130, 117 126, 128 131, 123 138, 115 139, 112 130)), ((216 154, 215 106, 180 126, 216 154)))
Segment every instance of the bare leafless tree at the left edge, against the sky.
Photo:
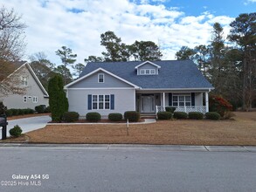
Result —
MULTIPOLYGON (((24 29, 21 16, 4 6, 0 7, 0 94, 22 94, 21 76, 10 75, 17 69, 17 61, 24 55, 24 29)), ((21 71, 20 71, 21 72, 21 71)), ((0 95, 0 96, 1 96, 0 95)))

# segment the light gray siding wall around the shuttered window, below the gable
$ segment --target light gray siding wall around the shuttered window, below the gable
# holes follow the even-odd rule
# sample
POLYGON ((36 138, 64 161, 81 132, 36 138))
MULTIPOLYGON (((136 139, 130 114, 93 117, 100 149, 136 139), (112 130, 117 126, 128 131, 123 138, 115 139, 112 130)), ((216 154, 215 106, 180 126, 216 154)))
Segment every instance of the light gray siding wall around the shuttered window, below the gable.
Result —
POLYGON ((68 89, 67 92, 69 111, 80 113, 85 116, 88 112, 98 112, 101 115, 109 113, 124 113, 135 110, 135 89, 68 89), (92 109, 88 110, 88 94, 114 94, 114 110, 92 109))

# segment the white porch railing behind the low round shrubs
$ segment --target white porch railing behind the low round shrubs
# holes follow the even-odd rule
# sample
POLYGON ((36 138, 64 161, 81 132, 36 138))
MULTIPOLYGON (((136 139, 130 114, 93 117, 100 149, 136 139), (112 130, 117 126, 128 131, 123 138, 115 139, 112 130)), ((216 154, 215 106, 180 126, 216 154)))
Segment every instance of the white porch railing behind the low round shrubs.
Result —
MULTIPOLYGON (((206 106, 175 106, 176 112, 200 112, 200 113, 206 113, 206 106)), ((164 112, 165 107, 163 106, 156 106, 156 113, 158 112, 164 112)))

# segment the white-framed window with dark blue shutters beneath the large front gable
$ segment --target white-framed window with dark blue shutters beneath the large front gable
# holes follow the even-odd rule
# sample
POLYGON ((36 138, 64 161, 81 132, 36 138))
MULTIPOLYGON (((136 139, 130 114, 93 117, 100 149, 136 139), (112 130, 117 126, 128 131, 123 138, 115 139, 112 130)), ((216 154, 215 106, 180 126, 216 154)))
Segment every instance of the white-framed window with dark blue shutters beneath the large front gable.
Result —
POLYGON ((88 95, 88 99, 91 97, 92 99, 88 102, 88 109, 114 109, 114 95, 88 95), (92 102, 92 108, 90 102, 92 102))

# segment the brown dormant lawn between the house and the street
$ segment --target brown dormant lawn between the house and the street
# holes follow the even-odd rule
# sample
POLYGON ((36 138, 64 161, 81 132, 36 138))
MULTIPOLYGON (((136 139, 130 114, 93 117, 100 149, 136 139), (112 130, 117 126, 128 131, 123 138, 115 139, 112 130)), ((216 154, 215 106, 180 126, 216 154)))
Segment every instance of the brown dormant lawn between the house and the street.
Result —
MULTIPOLYGON (((234 120, 162 120, 153 124, 51 125, 26 134, 31 143, 256 145, 256 112, 234 120)), ((20 139, 19 139, 20 140, 20 139)), ((14 140, 9 140, 14 141, 14 140)))

